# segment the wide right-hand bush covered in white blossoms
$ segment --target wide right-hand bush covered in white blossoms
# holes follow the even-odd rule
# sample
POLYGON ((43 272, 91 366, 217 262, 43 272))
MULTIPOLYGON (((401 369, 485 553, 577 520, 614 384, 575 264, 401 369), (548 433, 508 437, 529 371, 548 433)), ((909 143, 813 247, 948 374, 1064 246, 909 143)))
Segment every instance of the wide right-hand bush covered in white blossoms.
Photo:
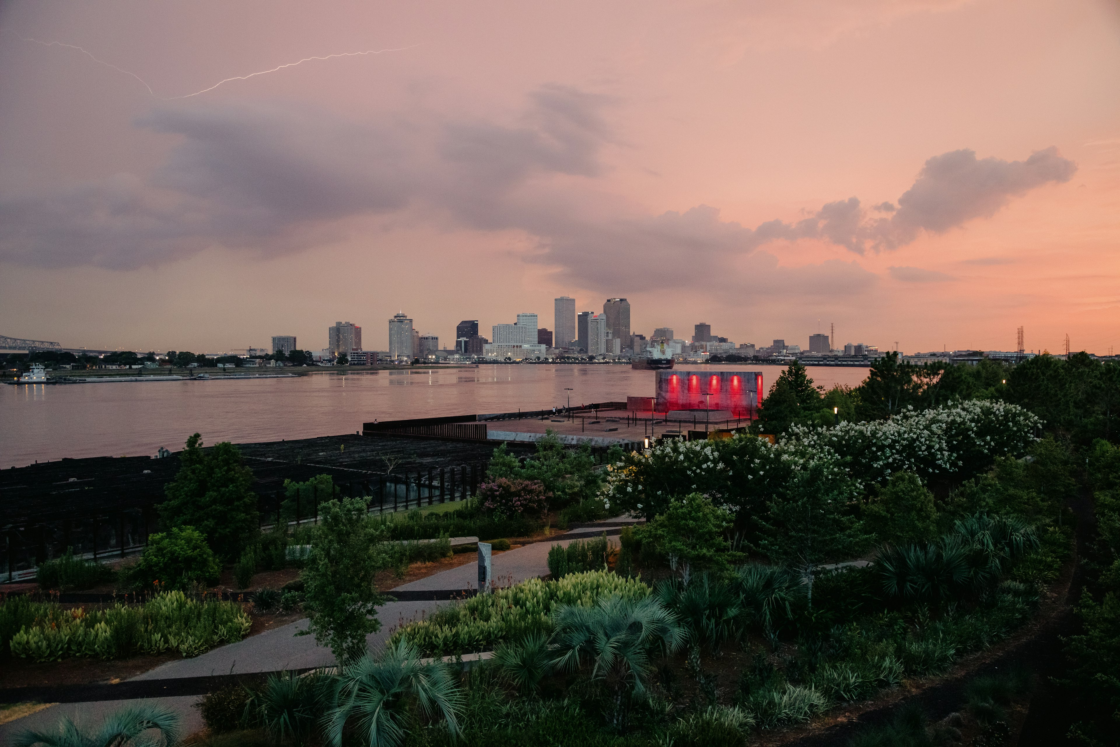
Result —
POLYGON ((897 471, 969 478, 996 457, 1019 457, 1035 442, 1042 421, 1016 404, 968 401, 933 410, 906 410, 889 419, 834 428, 794 426, 780 449, 831 450, 861 483, 897 471))

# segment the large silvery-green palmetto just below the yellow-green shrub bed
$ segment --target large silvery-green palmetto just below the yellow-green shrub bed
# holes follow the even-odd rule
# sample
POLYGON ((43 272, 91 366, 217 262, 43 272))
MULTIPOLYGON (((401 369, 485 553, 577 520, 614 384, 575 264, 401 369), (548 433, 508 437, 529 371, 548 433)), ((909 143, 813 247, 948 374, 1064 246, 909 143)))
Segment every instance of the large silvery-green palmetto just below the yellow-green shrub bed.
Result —
POLYGON ((556 665, 577 671, 590 665, 616 694, 644 692, 656 653, 672 653, 684 642, 676 616, 654 597, 600 599, 590 607, 563 606, 553 617, 556 665))

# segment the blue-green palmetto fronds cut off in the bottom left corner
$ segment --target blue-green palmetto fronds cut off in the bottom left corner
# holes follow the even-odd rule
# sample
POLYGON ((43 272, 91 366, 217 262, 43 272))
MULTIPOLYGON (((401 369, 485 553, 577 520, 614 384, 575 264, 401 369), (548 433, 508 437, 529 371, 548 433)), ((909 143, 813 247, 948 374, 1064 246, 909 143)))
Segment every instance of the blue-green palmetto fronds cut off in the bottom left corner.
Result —
POLYGON ((29 729, 10 744, 13 747, 170 747, 179 740, 179 722, 171 710, 140 703, 113 711, 96 728, 83 729, 66 717, 52 734, 29 729))

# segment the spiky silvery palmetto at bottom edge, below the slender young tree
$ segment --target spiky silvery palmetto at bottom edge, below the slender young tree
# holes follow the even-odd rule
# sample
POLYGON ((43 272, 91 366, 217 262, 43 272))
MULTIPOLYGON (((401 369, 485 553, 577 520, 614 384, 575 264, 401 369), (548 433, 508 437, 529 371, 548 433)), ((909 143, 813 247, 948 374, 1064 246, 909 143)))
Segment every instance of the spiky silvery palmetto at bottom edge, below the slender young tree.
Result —
POLYGON ((463 693, 442 662, 421 663, 404 641, 390 644, 376 659, 366 654, 334 678, 334 707, 326 719, 332 745, 343 744, 347 727, 368 747, 396 747, 404 739, 404 701, 414 698, 428 718, 441 719, 458 735, 463 693))

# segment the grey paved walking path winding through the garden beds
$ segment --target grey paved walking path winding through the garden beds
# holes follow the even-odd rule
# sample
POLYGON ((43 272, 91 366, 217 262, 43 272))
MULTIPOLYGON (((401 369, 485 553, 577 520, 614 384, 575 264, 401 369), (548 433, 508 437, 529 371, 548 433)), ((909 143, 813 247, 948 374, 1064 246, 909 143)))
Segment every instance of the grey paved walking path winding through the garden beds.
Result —
MULTIPOLYGON (((620 519, 608 520, 617 524, 620 519)), ((495 581, 502 585, 517 583, 525 579, 544 576, 549 572, 548 554, 553 544, 568 545, 571 534, 595 536, 603 529, 595 526, 580 527, 569 532, 569 536, 557 542, 535 542, 515 550, 508 550, 494 555, 493 570, 495 581)), ((617 541, 617 540, 616 540, 617 541)), ((428 578, 404 583, 394 590, 438 590, 477 588, 478 568, 467 563, 428 578)), ((390 601, 377 608, 381 619, 381 631, 367 636, 371 651, 377 651, 389 639, 392 629, 403 622, 430 614, 448 601, 390 601)), ((244 674, 253 672, 276 672, 286 669, 305 669, 309 666, 329 666, 335 657, 329 648, 315 643, 315 636, 297 636, 307 628, 307 620, 301 619, 273 631, 251 636, 237 643, 213 648, 194 659, 179 659, 144 672, 132 680, 164 680, 188 676, 207 676, 212 674, 244 674)), ((194 703, 197 697, 152 698, 148 702, 166 706, 184 718, 184 734, 192 734, 203 728, 202 718, 194 703)), ((85 703, 59 703, 38 713, 32 713, 16 721, 0 725, 0 744, 7 744, 16 734, 24 729, 55 729, 63 716, 77 718, 83 722, 101 721, 104 716, 118 708, 141 702, 139 700, 106 700, 85 703)))

